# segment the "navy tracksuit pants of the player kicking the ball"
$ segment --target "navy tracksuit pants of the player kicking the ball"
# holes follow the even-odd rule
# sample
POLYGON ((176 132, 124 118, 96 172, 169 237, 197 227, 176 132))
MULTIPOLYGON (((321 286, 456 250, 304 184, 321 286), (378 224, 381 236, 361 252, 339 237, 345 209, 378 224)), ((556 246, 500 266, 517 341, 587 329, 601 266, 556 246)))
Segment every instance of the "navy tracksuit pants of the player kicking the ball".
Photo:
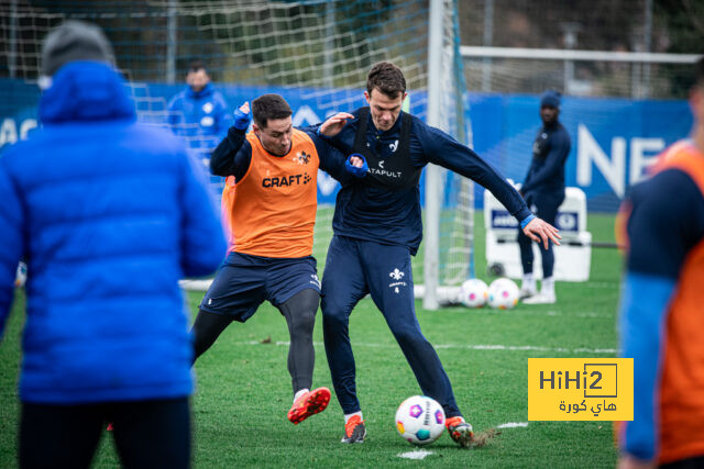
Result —
POLYGON ((344 413, 361 409, 348 326, 352 309, 367 293, 384 314, 422 393, 438 401, 448 417, 462 415, 440 358, 420 332, 408 248, 336 235, 322 276, 321 306, 328 365, 344 413))

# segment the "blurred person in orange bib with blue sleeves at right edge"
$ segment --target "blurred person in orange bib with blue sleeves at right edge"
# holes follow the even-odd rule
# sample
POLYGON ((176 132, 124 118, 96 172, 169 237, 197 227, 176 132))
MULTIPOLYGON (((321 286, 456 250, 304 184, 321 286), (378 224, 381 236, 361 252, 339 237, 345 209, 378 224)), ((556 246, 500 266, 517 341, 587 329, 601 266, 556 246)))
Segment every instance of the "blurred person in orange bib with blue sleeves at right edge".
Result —
POLYGON ((660 155, 619 216, 620 347, 635 380, 619 468, 704 467, 704 58, 690 104, 692 137, 660 155))

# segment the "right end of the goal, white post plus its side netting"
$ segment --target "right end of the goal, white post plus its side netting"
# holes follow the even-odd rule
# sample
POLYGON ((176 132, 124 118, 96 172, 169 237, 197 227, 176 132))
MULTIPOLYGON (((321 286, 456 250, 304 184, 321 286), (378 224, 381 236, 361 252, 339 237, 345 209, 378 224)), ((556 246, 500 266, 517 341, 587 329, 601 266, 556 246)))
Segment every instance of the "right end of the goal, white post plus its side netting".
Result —
MULTIPOLYGON (((471 144, 457 18, 457 1, 430 0, 427 123, 471 144)), ((472 181, 432 164, 426 167, 426 310, 454 300, 454 290, 444 288, 441 293, 441 287, 457 286, 474 275, 473 192, 472 181)))

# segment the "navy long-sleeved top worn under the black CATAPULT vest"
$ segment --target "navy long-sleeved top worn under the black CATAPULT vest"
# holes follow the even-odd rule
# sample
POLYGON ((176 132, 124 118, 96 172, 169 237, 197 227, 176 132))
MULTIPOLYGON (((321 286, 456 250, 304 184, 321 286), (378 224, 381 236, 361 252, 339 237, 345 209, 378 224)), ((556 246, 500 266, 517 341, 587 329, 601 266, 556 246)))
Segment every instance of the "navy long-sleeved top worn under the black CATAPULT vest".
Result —
MULTIPOLYGON (((359 113, 359 109, 352 112, 355 118, 359 113)), ((372 115, 367 118, 366 144, 381 160, 399 155, 403 115, 404 112, 388 131, 378 131, 372 115)), ((410 118, 408 150, 414 167, 422 168, 432 163, 448 168, 488 189, 519 222, 530 216, 520 194, 488 163, 439 129, 415 115, 410 118)), ((351 154, 358 126, 358 119, 348 122, 339 134, 329 138, 330 142, 344 154, 351 154)), ((391 190, 363 181, 343 182, 336 201, 332 228, 341 236, 407 246, 415 255, 422 239, 419 186, 391 190)))

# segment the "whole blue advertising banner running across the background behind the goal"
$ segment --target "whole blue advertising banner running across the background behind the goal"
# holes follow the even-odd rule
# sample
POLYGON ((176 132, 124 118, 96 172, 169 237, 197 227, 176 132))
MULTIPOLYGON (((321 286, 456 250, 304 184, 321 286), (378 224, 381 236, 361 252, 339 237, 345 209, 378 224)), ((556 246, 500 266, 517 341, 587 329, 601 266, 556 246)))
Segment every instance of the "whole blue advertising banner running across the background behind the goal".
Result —
MULTIPOLYGON (((183 85, 142 83, 130 88, 142 120, 165 124, 166 103, 183 85)), ((350 111, 365 102, 362 90, 354 89, 324 92, 235 85, 218 85, 217 88, 231 110, 260 94, 279 93, 294 110, 294 125, 322 121, 333 113, 323 110, 333 108, 331 102, 339 103, 336 111, 350 111)), ((38 98, 35 85, 0 79, 0 150, 7 144, 26 138, 37 126, 38 98)), ((410 99, 411 112, 425 114, 425 93, 410 92, 410 99)), ((468 118, 475 152, 507 178, 522 181, 531 158, 532 141, 540 127, 538 112, 539 98, 535 96, 470 92, 468 118)), ((606 212, 617 210, 628 187, 644 178, 656 155, 685 137, 693 122, 686 101, 571 97, 562 100, 560 120, 572 138, 565 167, 566 183, 586 193, 590 211, 606 212)), ((448 176, 448 181, 451 179, 452 176, 448 176)), ((320 172, 319 203, 334 203, 338 190, 337 181, 320 172)), ((483 200, 482 191, 476 188, 477 205, 483 200)))

